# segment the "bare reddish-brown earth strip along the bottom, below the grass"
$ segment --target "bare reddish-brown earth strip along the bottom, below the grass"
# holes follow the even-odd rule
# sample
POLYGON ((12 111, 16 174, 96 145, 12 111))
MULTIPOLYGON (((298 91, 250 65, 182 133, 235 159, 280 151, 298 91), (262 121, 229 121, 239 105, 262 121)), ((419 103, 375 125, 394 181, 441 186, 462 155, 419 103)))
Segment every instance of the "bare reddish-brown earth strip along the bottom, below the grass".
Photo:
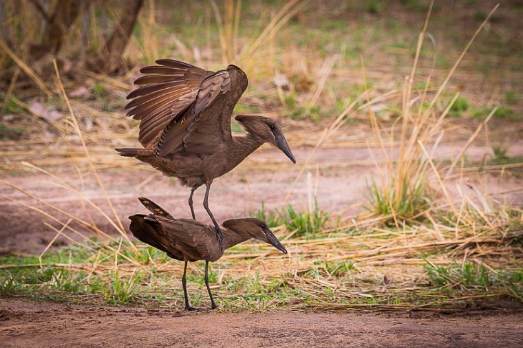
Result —
POLYGON ((0 347, 523 347, 523 313, 178 312, 0 301, 0 347))

